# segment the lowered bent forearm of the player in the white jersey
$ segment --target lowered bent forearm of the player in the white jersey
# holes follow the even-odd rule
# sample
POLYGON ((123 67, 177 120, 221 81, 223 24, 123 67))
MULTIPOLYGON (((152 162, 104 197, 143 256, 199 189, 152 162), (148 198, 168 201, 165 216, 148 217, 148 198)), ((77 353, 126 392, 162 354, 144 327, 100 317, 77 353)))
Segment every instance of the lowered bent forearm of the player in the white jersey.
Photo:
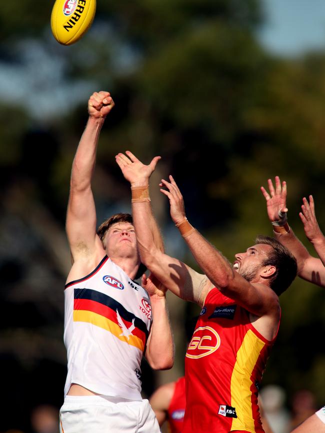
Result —
POLYGON ((174 346, 165 297, 150 298, 152 325, 146 350, 146 359, 154 370, 167 370, 173 366, 174 346))

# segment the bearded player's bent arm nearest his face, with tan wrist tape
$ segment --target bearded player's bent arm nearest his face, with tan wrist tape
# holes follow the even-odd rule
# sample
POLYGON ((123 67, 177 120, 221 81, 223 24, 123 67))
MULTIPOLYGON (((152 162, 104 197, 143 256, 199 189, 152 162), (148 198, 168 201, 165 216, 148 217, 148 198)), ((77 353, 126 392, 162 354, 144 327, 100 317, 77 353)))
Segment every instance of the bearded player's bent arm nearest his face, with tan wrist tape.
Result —
POLYGON ((189 224, 183 210, 182 195, 172 176, 169 176, 169 182, 162 179, 160 185, 166 188, 161 188, 160 191, 169 199, 173 222, 178 227, 199 267, 213 285, 223 295, 234 299, 256 316, 271 312, 277 314, 278 300, 274 292, 271 289, 265 290, 265 285, 253 285, 246 281, 232 269, 228 260, 189 224))

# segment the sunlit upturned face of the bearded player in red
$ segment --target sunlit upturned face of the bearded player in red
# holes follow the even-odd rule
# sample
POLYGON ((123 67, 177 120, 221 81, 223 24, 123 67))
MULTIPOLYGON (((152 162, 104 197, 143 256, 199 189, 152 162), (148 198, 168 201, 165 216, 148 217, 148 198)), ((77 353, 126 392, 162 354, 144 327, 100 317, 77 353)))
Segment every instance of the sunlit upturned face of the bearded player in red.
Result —
POLYGON ((259 270, 264 268, 261 264, 268 257, 271 249, 270 245, 257 244, 247 248, 244 253, 235 254, 233 270, 249 282, 260 282, 262 276, 259 270))

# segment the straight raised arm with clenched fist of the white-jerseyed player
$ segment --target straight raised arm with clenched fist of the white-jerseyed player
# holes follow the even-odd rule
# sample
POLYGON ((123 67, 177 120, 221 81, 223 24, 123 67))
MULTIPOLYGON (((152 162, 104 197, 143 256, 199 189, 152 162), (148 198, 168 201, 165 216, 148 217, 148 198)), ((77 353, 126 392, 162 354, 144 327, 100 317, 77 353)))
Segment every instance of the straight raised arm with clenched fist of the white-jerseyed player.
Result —
POLYGON ((96 235, 96 212, 91 191, 91 177, 96 160, 100 129, 114 106, 108 92, 93 93, 88 101, 89 118, 72 163, 70 194, 66 214, 66 233, 72 261, 96 260, 103 248, 96 235))

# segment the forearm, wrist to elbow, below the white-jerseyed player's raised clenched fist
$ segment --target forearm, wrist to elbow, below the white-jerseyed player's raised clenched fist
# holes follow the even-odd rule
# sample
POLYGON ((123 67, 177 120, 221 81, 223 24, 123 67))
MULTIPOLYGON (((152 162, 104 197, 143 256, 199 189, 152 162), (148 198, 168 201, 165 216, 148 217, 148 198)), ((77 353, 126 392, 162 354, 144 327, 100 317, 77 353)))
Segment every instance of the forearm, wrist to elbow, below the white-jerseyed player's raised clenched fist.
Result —
POLYGON ((71 187, 83 189, 90 185, 96 162, 96 149, 104 119, 88 118, 72 164, 71 187))

